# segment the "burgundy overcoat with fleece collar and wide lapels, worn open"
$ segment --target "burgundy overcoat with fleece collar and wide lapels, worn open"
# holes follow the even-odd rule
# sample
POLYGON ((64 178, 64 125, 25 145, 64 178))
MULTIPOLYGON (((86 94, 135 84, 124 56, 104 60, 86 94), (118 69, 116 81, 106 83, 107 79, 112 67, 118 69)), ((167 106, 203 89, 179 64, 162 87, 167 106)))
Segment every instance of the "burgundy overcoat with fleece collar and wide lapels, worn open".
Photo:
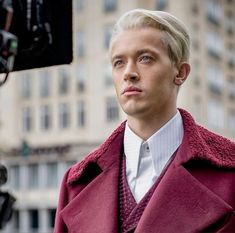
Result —
MULTIPOLYGON (((180 109, 184 138, 136 233, 235 232, 235 143, 180 109)), ((62 181, 54 233, 118 233, 122 123, 62 181)))

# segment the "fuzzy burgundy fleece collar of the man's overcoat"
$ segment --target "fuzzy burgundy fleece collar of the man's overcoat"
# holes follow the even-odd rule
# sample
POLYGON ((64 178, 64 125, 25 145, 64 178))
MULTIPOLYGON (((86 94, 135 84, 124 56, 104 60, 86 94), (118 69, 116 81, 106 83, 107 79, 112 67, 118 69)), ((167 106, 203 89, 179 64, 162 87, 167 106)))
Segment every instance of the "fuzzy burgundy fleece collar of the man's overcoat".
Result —
MULTIPOLYGON (((178 164, 186 163, 191 159, 202 159, 217 167, 235 168, 235 143, 197 125, 187 111, 183 109, 179 111, 184 125, 183 141, 187 141, 188 147, 182 148, 185 153, 184 155, 181 153, 183 157, 178 160, 178 164)), ((90 163, 98 164, 102 170, 106 169, 114 159, 114 156, 109 156, 106 152, 113 147, 115 140, 122 142, 124 129, 125 122, 98 149, 73 166, 68 175, 68 183, 78 181, 90 163)))

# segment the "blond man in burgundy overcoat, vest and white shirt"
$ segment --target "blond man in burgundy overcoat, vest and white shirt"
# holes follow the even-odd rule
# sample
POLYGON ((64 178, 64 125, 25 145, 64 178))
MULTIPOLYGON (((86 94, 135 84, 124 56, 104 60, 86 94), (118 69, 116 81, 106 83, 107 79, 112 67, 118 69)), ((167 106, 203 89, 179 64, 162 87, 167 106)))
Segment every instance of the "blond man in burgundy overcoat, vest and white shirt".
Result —
POLYGON ((65 174, 54 232, 235 232, 235 144, 176 107, 190 72, 184 25, 129 11, 110 57, 127 121, 65 174))

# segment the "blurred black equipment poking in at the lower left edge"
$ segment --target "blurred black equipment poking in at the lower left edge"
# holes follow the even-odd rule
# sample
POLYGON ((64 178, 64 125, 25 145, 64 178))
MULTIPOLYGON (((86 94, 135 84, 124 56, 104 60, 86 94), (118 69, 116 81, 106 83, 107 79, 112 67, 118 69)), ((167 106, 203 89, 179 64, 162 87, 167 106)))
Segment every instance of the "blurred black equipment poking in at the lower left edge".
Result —
MULTIPOLYGON (((0 185, 7 182, 7 169, 0 164, 0 185)), ((8 192, 0 190, 0 229, 11 219, 16 199, 8 192)))

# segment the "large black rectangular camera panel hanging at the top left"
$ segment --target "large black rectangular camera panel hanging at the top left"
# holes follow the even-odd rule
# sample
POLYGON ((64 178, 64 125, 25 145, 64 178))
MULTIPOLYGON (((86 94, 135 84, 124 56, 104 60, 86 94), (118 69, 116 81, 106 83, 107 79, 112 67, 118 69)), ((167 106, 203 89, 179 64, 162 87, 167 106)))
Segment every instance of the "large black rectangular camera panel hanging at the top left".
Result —
POLYGON ((72 61, 72 0, 13 0, 10 32, 19 46, 13 71, 72 61))

